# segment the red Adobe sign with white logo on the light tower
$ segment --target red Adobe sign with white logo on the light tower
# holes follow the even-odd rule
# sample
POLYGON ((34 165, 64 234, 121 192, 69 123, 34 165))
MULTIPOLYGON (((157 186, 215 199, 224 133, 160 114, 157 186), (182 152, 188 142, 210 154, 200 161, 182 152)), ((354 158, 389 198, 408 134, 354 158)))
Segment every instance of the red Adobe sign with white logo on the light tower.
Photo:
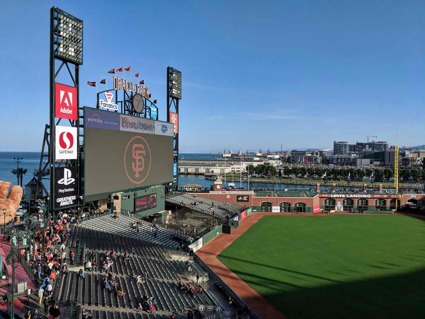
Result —
POLYGON ((77 120, 77 88, 54 84, 55 117, 67 120, 77 120))

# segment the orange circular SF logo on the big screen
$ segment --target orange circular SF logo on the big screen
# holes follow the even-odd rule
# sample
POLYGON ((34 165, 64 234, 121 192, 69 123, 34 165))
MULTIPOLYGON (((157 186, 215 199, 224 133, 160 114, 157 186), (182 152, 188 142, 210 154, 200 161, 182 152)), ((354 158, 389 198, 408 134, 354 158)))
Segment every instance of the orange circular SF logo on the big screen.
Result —
POLYGON ((142 183, 150 172, 151 154, 147 141, 141 136, 132 137, 124 151, 124 170, 133 184, 142 183))

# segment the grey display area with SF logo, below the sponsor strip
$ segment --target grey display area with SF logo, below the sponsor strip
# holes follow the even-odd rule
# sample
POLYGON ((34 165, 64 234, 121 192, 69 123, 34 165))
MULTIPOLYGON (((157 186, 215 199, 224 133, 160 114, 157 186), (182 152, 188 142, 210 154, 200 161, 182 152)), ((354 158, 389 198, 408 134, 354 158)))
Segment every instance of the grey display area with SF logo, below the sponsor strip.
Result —
POLYGON ((173 137, 86 127, 84 143, 86 202, 173 181, 173 137))

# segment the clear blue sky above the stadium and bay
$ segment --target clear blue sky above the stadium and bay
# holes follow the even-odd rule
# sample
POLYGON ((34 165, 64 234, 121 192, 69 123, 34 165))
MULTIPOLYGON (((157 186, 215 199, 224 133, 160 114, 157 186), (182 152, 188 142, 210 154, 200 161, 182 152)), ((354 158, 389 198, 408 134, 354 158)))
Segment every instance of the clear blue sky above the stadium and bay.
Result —
POLYGON ((166 67, 182 72, 180 151, 331 147, 367 133, 394 144, 397 131, 400 145, 425 144, 424 1, 9 1, 0 151, 41 148, 53 4, 84 20, 80 105, 96 104, 87 81, 132 66, 166 120, 166 67))

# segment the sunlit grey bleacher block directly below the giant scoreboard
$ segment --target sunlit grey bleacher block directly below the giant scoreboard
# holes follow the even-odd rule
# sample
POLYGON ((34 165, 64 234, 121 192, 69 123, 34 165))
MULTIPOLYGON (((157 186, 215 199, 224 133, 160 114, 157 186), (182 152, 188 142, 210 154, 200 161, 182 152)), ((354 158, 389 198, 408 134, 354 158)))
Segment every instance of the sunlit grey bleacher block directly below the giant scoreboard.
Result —
POLYGON ((151 224, 149 222, 142 222, 139 232, 136 232, 135 229, 130 227, 134 221, 140 221, 140 219, 125 215, 119 215, 117 219, 113 219, 111 215, 106 215, 96 219, 86 220, 79 225, 98 231, 140 239, 143 242, 153 242, 167 248, 176 248, 178 246, 178 239, 186 242, 189 240, 189 236, 177 234, 162 227, 159 228, 159 234, 155 237, 154 232, 150 229, 151 224))

